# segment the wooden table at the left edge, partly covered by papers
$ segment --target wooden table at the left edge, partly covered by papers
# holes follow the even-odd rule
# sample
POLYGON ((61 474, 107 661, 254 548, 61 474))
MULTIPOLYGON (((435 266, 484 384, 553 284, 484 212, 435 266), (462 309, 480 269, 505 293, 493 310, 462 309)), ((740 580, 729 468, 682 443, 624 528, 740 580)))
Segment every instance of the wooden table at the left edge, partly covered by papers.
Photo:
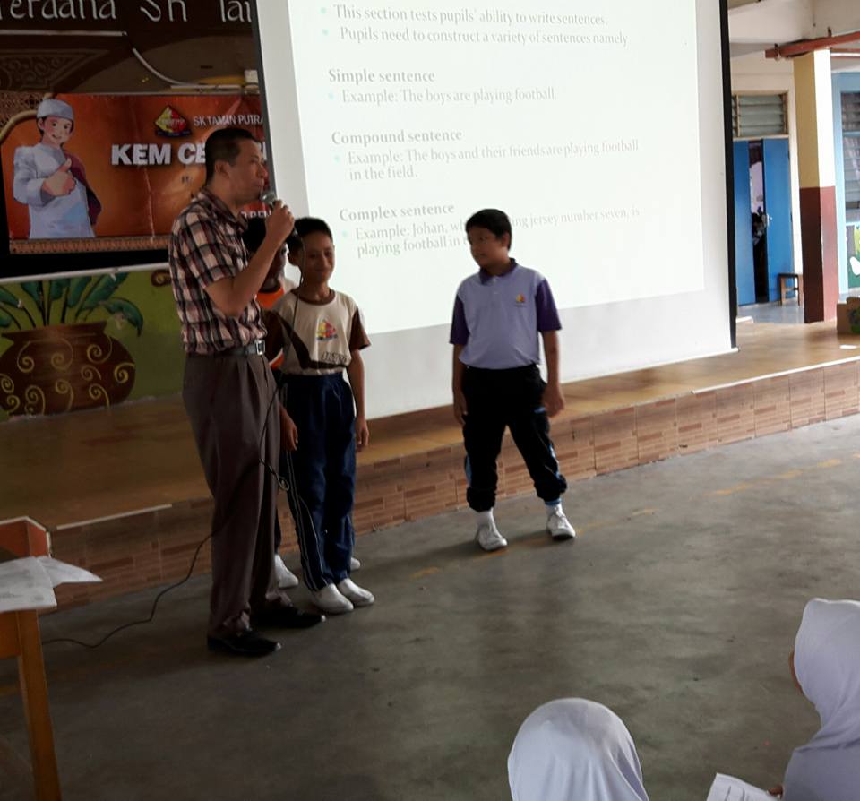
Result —
MULTIPOLYGON (((32 521, 0 522, 0 562, 25 556, 48 556, 47 533, 32 521)), ((38 801, 60 798, 54 730, 47 705, 45 662, 39 634, 39 613, 0 612, 0 659, 18 659, 18 678, 27 729, 30 761, 38 801)))

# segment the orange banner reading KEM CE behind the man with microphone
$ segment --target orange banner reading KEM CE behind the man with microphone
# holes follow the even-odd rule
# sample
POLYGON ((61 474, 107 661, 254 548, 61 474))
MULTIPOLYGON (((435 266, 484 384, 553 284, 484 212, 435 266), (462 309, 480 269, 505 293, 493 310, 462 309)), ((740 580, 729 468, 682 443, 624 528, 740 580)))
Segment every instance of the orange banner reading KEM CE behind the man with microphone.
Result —
POLYGON ((263 138, 256 96, 67 94, 39 108, 0 144, 12 254, 164 247, 203 184, 208 135, 237 125, 263 138))

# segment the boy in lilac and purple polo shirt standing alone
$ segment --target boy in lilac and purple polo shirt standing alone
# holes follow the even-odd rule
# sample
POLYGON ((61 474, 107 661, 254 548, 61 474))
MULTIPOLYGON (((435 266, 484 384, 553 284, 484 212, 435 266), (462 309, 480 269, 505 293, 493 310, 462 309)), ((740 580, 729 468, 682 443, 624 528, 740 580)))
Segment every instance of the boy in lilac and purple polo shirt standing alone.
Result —
POLYGON ((558 471, 549 419, 564 408, 558 377, 562 327, 553 293, 538 272, 514 261, 511 220, 503 211, 478 211, 466 222, 480 270, 460 284, 454 301, 454 417, 466 444, 466 498, 477 512, 477 544, 507 546, 495 525, 496 458, 505 427, 546 504, 546 530, 556 540, 576 536, 564 516, 567 482, 558 471), (544 340, 548 382, 540 377, 538 332, 544 340))

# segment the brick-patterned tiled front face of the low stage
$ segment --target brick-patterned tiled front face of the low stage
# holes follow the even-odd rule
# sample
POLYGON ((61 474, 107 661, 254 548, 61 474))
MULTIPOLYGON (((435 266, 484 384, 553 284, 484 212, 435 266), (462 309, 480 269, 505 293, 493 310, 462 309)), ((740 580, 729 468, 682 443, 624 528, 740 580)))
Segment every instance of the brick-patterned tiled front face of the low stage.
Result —
MULTIPOLYGON (((860 411, 858 364, 860 357, 849 358, 563 418, 553 424, 555 450, 564 475, 578 481, 854 415, 860 411)), ((465 507, 464 455, 462 444, 454 444, 359 466, 353 515, 357 533, 465 507)), ((506 435, 499 458, 499 496, 531 489, 520 454, 506 435)), ((284 550, 293 550, 292 521, 286 504, 281 507, 284 550)), ((210 519, 211 499, 204 497, 57 527, 51 531, 54 556, 104 580, 58 587, 59 607, 178 581, 209 533, 210 519)), ((209 548, 203 547, 194 573, 209 569, 209 548)))

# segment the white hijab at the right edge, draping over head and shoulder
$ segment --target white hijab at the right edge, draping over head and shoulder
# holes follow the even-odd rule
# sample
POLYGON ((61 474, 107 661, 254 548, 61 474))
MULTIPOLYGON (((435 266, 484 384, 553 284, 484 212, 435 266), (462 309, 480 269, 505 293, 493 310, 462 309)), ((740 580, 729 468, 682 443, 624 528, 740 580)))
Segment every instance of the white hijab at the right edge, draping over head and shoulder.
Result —
POLYGON ((821 716, 786 770, 785 801, 860 797, 860 603, 811 600, 795 641, 795 672, 821 716))

